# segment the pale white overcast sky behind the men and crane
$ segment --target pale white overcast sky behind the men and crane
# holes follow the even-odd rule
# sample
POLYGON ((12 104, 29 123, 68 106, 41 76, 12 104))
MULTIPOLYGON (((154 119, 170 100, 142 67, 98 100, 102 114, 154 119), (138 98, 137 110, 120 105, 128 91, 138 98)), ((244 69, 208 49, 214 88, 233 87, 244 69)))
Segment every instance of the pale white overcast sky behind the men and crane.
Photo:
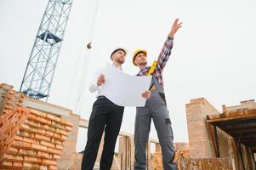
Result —
MULTIPOLYGON (((0 0, 0 82, 19 90, 26 62, 48 0, 0 0)), ((164 70, 165 92, 173 122, 174 142, 187 142, 185 104, 205 97, 219 111, 223 104, 255 99, 256 2, 253 0, 170 1, 100 0, 91 55, 85 48, 94 13, 94 1, 73 0, 49 102, 75 109, 83 59, 86 85, 82 109, 88 119, 95 94, 88 92, 94 71, 109 60, 113 48, 130 52, 124 71, 136 74, 135 48, 146 48, 149 63, 156 59, 175 18, 183 27, 164 70)), ((134 133, 134 108, 125 111, 122 131, 134 133)), ((153 123, 152 123, 153 124, 153 123)), ((152 125, 151 138, 156 138, 152 125)), ((81 131, 77 150, 86 133, 81 131)))

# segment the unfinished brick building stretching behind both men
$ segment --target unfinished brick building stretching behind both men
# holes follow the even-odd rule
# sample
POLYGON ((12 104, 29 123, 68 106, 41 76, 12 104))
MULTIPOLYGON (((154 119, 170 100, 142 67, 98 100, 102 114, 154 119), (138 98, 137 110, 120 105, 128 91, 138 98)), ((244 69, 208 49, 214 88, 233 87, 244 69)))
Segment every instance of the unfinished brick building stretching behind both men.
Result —
MULTIPOLYGON (((175 144, 179 169, 255 169, 254 100, 217 111, 206 99, 191 99, 186 106, 189 144, 175 144)), ((0 84, 0 169, 79 170, 78 128, 88 121, 58 105, 27 98, 0 84)), ((134 166, 134 135, 121 132, 112 170, 134 166)), ((99 168, 100 144, 95 169, 99 168)), ((161 146, 150 139, 147 169, 162 169, 161 146), (151 152, 154 144, 155 150, 151 152)))

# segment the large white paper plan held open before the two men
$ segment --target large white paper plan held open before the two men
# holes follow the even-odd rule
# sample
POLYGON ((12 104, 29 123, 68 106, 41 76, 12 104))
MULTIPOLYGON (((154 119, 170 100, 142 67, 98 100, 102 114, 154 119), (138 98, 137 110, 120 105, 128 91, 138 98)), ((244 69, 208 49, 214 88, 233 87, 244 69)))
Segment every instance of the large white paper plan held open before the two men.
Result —
POLYGON ((148 89, 151 76, 135 77, 106 64, 103 71, 105 83, 101 85, 101 94, 116 105, 145 106, 145 98, 150 95, 148 89))

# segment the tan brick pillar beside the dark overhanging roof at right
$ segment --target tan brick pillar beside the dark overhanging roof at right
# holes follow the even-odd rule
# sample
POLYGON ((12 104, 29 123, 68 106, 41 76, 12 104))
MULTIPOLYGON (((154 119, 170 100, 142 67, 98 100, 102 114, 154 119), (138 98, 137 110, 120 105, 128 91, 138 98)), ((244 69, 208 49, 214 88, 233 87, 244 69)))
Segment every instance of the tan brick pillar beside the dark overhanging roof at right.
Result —
POLYGON ((191 158, 215 157, 205 117, 219 114, 219 111, 204 98, 191 99, 185 107, 191 158))

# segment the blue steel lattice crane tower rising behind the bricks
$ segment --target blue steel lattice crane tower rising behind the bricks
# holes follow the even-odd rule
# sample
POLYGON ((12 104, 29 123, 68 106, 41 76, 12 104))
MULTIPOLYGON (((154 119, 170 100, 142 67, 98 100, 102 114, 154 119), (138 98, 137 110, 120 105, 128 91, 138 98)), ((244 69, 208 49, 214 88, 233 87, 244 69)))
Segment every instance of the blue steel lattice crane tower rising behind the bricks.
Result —
POLYGON ((48 99, 72 0, 49 0, 37 31, 20 92, 48 99))

